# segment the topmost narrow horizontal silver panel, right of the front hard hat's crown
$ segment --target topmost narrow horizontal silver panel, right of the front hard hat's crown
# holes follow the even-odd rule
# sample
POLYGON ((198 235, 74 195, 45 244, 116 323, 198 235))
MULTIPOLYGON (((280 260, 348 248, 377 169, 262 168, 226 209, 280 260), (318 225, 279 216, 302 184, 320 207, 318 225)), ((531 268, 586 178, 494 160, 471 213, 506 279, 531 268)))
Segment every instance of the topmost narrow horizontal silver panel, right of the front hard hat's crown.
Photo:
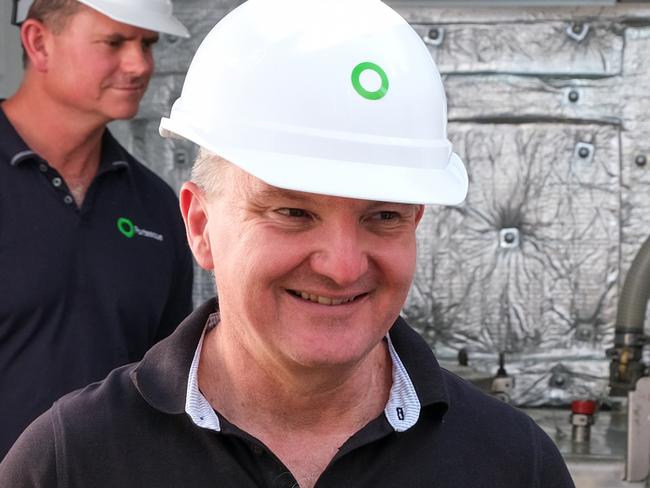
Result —
POLYGON ((442 73, 607 76, 621 70, 613 23, 415 24, 442 73))

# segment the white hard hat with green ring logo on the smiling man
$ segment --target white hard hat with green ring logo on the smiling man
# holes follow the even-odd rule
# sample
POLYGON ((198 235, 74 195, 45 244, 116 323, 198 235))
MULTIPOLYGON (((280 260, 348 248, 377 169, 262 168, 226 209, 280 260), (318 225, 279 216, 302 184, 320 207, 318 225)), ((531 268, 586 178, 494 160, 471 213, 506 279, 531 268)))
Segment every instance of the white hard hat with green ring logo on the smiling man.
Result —
POLYGON ((379 0, 248 0, 203 40, 161 135, 270 185, 458 204, 467 172, 420 37, 379 0))

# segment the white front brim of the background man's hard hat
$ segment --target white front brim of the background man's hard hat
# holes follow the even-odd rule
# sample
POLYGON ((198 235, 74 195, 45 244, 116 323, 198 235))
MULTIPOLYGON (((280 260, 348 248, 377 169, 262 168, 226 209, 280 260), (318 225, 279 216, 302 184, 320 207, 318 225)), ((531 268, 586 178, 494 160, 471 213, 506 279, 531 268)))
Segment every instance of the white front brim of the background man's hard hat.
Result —
POLYGON ((166 15, 160 12, 147 10, 146 12, 137 12, 134 6, 118 5, 111 0, 79 0, 86 6, 97 10, 107 17, 133 25, 142 29, 147 29, 163 34, 171 34, 179 37, 190 37, 189 31, 176 17, 166 15))

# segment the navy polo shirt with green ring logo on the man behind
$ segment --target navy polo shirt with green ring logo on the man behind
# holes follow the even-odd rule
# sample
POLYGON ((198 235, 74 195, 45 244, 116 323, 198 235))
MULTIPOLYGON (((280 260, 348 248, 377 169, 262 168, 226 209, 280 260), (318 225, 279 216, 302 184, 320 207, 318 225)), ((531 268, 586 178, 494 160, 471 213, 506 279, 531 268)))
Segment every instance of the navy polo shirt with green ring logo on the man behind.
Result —
POLYGON ((170 334, 191 290, 166 183, 106 131, 78 208, 0 108, 0 459, 61 395, 170 334))

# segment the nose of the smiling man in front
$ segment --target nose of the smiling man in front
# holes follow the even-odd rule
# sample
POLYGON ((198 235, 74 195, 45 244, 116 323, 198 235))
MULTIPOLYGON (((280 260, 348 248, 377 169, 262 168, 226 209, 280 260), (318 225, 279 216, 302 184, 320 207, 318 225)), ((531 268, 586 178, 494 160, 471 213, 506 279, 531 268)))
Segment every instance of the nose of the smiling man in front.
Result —
POLYGON ((368 249, 358 226, 337 223, 324 226, 318 251, 310 259, 314 272, 338 286, 350 286, 368 272, 368 249))

